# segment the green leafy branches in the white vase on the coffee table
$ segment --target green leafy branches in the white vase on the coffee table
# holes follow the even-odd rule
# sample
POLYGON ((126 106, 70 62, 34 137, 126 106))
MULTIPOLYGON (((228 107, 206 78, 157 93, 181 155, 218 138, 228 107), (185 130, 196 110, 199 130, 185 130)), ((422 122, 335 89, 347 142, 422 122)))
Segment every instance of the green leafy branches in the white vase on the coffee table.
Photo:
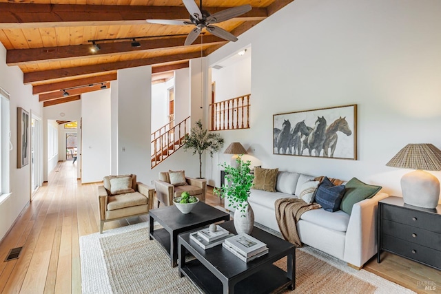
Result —
POLYGON ((249 190, 253 187, 254 175, 251 174, 249 160, 243 161, 240 156, 236 159, 237 167, 231 167, 224 162, 221 167, 225 169, 225 178, 227 184, 220 189, 214 188, 213 193, 220 198, 229 199, 229 207, 239 209, 241 213, 245 213, 248 205, 249 190))

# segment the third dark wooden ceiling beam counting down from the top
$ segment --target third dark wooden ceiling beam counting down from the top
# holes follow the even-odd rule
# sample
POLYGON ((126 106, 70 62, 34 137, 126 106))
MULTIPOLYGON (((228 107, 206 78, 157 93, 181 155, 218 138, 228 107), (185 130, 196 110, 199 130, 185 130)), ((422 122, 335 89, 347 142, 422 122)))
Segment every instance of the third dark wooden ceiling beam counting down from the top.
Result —
MULTIPOLYGON (((204 55, 203 55, 204 56, 204 55)), ((114 63, 101 63, 95 65, 84 65, 79 67, 61 68, 59 70, 45 70, 41 72, 28 72, 23 74, 23 83, 35 83, 40 81, 50 81, 57 78, 70 76, 81 76, 83 74, 94 74, 99 72, 110 72, 123 68, 167 63, 172 61, 184 61, 201 57, 201 52, 191 52, 185 54, 174 54, 167 56, 156 56, 149 59, 134 59, 130 61, 119 61, 114 63)))

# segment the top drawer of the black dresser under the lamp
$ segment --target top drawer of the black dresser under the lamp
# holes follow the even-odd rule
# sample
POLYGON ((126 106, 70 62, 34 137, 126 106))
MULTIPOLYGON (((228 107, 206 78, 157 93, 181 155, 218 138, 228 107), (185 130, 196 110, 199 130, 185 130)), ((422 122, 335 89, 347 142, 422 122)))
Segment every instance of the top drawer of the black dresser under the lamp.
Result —
POLYGON ((386 220, 441 233, 441 219, 438 215, 384 204, 382 213, 386 220))

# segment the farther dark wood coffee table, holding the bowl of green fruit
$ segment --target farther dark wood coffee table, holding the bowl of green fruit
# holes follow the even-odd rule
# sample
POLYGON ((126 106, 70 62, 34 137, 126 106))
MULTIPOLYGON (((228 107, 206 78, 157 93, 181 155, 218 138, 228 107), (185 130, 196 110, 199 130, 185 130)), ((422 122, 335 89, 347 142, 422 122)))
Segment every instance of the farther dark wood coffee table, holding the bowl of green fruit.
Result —
POLYGON ((173 267, 178 265, 178 234, 214 222, 229 220, 228 213, 215 209, 201 201, 187 214, 181 213, 176 206, 171 205, 152 209, 149 211, 149 216, 149 239, 154 239, 163 246, 165 252, 170 255, 173 267), (161 224, 162 229, 154 230, 155 220, 161 224))

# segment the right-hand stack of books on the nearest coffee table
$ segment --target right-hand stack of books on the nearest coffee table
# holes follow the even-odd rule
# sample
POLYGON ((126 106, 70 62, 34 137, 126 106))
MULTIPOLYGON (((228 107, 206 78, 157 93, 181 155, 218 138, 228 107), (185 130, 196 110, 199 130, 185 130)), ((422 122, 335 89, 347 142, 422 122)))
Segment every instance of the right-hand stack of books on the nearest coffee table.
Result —
POLYGON ((268 253, 267 244, 245 233, 228 238, 222 246, 244 262, 250 262, 268 253))

